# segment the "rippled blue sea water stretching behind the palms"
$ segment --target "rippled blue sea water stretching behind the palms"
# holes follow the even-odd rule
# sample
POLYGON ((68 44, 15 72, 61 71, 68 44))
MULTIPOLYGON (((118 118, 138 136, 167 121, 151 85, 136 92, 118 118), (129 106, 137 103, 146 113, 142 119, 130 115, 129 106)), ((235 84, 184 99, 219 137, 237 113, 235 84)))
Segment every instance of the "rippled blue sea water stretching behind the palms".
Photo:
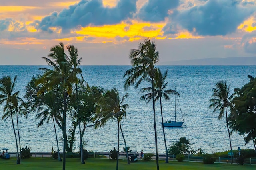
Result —
MULTIPOLYGON (((16 90, 24 95, 24 86, 33 75, 39 74, 38 68, 45 66, 0 66, 0 77, 10 75, 12 78, 18 75, 16 90)), ((180 106, 184 116, 184 125, 181 128, 165 127, 167 145, 177 141, 180 137, 187 137, 192 147, 197 150, 201 147, 204 152, 211 153, 230 149, 228 132, 225 119, 218 120, 218 113, 212 113, 208 109, 209 99, 212 95, 212 87, 219 80, 227 80, 231 84, 231 90, 241 88, 249 81, 248 74, 255 76, 256 66, 158 66, 161 70, 168 69, 169 75, 166 81, 168 88, 180 93, 180 106)), ((122 78, 124 72, 130 66, 81 66, 84 79, 90 86, 102 86, 103 88, 117 88, 120 96, 124 95, 122 78)), ((149 84, 142 84, 147 87, 149 84)), ((154 152, 154 124, 152 104, 139 101, 142 94, 139 89, 131 87, 128 91, 129 104, 127 117, 122 121, 122 129, 126 137, 126 143, 131 150, 154 152)), ((158 152, 164 153, 164 139, 161 127, 159 104, 156 104, 156 122, 158 135, 158 152)), ((2 116, 2 106, 0 115, 2 116)), ((164 121, 174 118, 174 97, 171 102, 163 102, 164 121)), ((50 152, 52 146, 56 149, 53 124, 45 124, 39 129, 35 120, 36 113, 30 113, 28 119, 20 117, 21 145, 32 147, 32 152, 50 152)), ((181 114, 177 113, 177 119, 181 120, 181 114)), ((0 148, 8 147, 15 152, 16 144, 10 120, 0 120, 0 148)), ((62 136, 58 129, 58 139, 62 136)), ((87 143, 86 149, 98 152, 109 151, 117 147, 117 125, 116 122, 109 122, 105 127, 99 129, 88 128, 84 134, 87 143)), ((231 135, 234 149, 253 148, 252 143, 244 145, 243 137, 236 133, 231 135)), ((76 149, 78 150, 76 140, 76 149)), ((62 145, 62 143, 60 144, 62 145)), ((120 138, 120 147, 124 142, 120 138)), ((62 149, 62 147, 60 147, 62 149)), ((61 150, 62 151, 62 150, 61 150)))

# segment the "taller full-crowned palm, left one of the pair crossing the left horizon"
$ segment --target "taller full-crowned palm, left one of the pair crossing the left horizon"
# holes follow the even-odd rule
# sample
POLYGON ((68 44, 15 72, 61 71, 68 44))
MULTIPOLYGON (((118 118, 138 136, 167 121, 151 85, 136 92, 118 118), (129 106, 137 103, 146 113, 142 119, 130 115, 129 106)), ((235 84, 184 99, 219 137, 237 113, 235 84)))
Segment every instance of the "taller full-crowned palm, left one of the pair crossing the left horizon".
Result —
POLYGON ((81 73, 80 68, 72 69, 72 64, 68 61, 68 57, 64 52, 64 45, 60 43, 50 49, 48 57, 42 57, 50 68, 40 68, 44 71, 42 78, 40 78, 36 85, 42 84, 42 88, 38 94, 43 93, 45 90, 53 88, 55 85, 61 85, 63 88, 63 166, 66 168, 66 110, 67 110, 67 95, 72 93, 72 83, 76 82, 76 74, 81 73), (51 69, 52 68, 52 69, 51 69))

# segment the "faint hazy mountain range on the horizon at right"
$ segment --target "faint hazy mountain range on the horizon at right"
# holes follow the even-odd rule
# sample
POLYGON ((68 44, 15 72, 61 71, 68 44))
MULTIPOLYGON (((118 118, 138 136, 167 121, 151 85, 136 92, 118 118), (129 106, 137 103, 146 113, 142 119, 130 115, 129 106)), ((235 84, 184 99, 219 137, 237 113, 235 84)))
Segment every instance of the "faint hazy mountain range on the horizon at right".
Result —
POLYGON ((256 65, 256 57, 228 57, 194 60, 179 60, 159 63, 160 65, 256 65))

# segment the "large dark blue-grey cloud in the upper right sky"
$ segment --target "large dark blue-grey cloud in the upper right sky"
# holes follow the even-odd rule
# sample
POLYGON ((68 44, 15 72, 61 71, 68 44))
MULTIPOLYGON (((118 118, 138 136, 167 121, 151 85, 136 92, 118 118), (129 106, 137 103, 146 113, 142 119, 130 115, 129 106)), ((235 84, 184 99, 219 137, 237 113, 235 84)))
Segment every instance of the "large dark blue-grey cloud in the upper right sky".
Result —
POLYGON ((243 7, 240 4, 240 0, 208 0, 204 5, 172 15, 163 31, 165 34, 174 33, 176 25, 180 25, 197 35, 227 35, 235 32, 238 25, 256 10, 256 6, 243 7))

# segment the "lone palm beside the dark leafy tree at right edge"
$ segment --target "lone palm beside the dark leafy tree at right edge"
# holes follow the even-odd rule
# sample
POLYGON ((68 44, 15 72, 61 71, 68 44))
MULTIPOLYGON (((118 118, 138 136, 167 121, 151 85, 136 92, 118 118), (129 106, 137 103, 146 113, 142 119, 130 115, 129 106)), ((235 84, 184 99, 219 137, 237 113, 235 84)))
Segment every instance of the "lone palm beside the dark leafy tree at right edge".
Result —
POLYGON ((214 109, 213 112, 219 111, 218 119, 222 119, 224 116, 224 111, 226 112, 226 123, 227 123, 227 129, 228 129, 228 137, 229 137, 229 143, 230 143, 230 150, 231 150, 231 164, 233 164, 233 152, 232 152, 232 145, 231 145, 231 138, 230 138, 230 131, 228 128, 228 113, 227 109, 232 109, 231 100, 234 98, 234 94, 230 95, 229 91, 230 85, 227 85, 226 81, 219 81, 214 85, 214 88, 212 88, 212 99, 209 100, 210 102, 210 109, 214 109))

